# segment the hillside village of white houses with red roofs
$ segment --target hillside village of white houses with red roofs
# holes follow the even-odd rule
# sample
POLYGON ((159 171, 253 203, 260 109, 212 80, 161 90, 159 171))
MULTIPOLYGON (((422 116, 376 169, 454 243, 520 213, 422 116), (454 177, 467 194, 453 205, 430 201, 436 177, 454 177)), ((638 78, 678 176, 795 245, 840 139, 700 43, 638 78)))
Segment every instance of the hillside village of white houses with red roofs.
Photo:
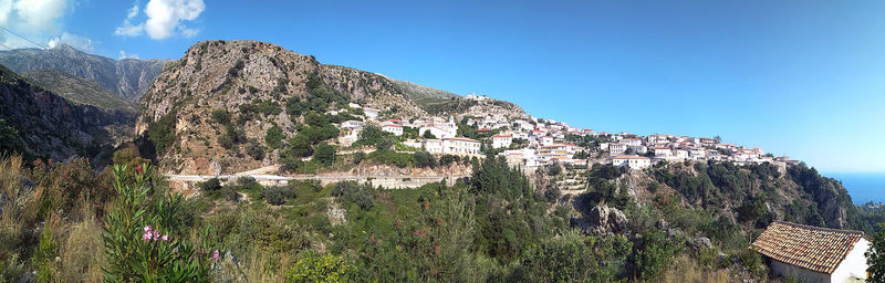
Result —
MULTIPOLYGON (((465 98, 480 105, 496 101, 475 94, 465 98)), ((342 129, 339 144, 343 147, 354 144, 365 126, 375 125, 399 137, 402 145, 408 148, 423 149, 435 155, 467 157, 482 157, 491 151, 504 157, 511 166, 524 168, 553 164, 587 168, 593 164, 612 164, 643 169, 662 161, 717 160, 736 165, 770 163, 783 171, 789 163, 796 163, 788 157, 774 157, 759 147, 723 144, 718 137, 670 134, 638 136, 629 133, 595 132, 528 114, 461 114, 403 119, 391 112, 362 107, 356 103, 326 114, 339 115, 348 108, 358 109, 361 114, 352 116, 358 119, 339 124, 342 129), (468 130, 475 135, 465 133, 468 130)))

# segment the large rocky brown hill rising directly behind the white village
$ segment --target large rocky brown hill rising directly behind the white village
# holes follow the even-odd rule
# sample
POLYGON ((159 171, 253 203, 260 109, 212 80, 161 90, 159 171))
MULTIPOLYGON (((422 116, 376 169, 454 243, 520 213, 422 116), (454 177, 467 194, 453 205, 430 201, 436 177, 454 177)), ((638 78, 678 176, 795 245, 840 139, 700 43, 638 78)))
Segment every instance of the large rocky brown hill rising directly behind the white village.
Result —
POLYGON ((271 43, 207 41, 166 64, 142 97, 136 133, 150 134, 156 123, 152 144, 162 149, 157 154, 165 169, 215 174, 277 163, 279 151, 264 140, 268 130, 280 128, 292 137, 303 129, 309 112, 357 103, 382 109, 381 117, 403 119, 501 109, 525 115, 516 105, 497 102, 480 104, 372 72, 320 64, 271 43), (236 123, 217 123, 212 112, 227 112, 236 123), (231 147, 231 139, 239 146, 231 147), (269 154, 253 158, 247 148, 269 154))

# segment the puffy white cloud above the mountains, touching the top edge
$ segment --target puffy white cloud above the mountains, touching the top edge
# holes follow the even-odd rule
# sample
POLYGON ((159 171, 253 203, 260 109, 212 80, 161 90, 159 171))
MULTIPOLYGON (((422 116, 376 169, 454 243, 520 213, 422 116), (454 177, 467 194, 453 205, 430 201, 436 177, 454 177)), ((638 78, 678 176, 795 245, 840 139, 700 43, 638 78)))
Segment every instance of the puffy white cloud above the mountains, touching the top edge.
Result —
POLYGON ((144 9, 147 20, 134 23, 134 18, 139 14, 136 3, 126 14, 123 27, 118 27, 114 34, 136 36, 146 32, 152 39, 162 40, 177 32, 183 36, 192 38, 197 35, 199 29, 188 28, 185 22, 196 20, 204 9, 206 4, 202 0, 150 0, 144 9))

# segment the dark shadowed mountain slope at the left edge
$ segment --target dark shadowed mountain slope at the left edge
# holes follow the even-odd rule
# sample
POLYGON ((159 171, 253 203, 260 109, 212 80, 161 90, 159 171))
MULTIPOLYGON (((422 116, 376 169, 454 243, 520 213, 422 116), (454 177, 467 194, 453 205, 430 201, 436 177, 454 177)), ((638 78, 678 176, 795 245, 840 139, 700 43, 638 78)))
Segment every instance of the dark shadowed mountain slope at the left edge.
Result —
POLYGON ((0 119, 17 132, 12 138, 27 156, 63 160, 111 149, 132 115, 72 104, 0 66, 0 119))

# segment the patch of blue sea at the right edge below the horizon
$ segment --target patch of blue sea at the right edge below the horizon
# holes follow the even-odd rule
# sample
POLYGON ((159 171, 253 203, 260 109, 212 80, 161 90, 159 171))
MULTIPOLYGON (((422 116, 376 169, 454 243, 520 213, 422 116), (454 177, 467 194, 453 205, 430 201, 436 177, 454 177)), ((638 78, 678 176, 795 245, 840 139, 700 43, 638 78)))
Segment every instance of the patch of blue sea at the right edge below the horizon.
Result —
POLYGON ((885 202, 885 174, 883 172, 822 172, 821 175, 841 180, 855 205, 864 205, 870 201, 885 202))

